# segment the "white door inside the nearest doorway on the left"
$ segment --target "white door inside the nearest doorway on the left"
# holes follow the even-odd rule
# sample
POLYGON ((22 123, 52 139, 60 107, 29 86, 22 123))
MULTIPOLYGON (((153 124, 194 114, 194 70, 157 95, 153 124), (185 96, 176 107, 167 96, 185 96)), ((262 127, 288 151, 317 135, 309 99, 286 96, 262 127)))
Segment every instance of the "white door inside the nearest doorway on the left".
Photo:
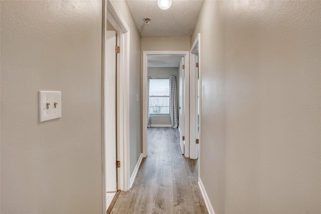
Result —
POLYGON ((106 31, 105 154, 106 190, 116 191, 116 32, 106 31))

